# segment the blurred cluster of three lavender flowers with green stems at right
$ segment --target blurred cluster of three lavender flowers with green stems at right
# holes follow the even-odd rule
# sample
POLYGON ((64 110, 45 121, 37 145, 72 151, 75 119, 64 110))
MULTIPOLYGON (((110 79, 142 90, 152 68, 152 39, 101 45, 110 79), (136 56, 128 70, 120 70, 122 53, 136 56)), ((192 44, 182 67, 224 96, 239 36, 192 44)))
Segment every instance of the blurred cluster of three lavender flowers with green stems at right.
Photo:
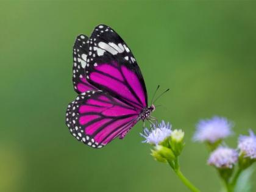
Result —
POLYGON ((241 135, 238 138, 237 149, 229 148, 223 143, 224 138, 232 134, 232 127, 233 124, 226 118, 215 116, 199 121, 194 134, 195 141, 204 142, 210 147, 207 163, 218 170, 219 176, 226 183, 227 191, 236 185, 241 172, 256 161, 256 136, 252 130, 249 130, 249 136, 241 135))

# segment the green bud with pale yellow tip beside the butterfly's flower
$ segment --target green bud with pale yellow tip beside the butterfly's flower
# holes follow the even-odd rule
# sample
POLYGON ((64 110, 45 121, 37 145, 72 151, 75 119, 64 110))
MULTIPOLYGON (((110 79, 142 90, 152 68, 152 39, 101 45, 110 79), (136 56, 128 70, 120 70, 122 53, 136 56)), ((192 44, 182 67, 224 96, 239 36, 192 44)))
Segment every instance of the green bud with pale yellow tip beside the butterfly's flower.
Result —
POLYGON ((181 154, 182 149, 185 146, 185 143, 183 142, 184 135, 185 133, 181 129, 175 129, 171 133, 171 140, 169 140, 169 144, 176 156, 181 154))

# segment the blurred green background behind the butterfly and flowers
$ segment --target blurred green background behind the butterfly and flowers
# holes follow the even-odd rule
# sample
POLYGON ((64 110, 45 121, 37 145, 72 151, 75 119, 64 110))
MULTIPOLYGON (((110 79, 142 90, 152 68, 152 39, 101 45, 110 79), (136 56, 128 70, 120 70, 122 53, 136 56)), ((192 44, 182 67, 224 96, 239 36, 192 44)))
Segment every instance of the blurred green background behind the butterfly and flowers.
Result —
POLYGON ((235 123, 233 148, 255 130, 252 1, 1 1, 0 191, 188 191, 141 144, 141 123, 101 150, 69 134, 73 43, 101 23, 132 49, 149 99, 158 84, 171 89, 154 116, 185 130, 184 174, 202 191, 219 191, 205 146, 191 137, 213 115, 235 123))

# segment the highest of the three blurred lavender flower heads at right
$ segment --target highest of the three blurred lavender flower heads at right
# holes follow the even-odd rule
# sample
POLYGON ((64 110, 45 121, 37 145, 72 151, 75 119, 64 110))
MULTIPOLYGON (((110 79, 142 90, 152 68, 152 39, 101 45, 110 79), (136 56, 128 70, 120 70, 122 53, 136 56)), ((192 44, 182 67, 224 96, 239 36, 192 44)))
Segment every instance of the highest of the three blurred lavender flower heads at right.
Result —
POLYGON ((194 134, 194 141, 215 143, 231 135, 232 126, 233 124, 226 118, 218 116, 214 116, 212 119, 201 120, 196 126, 197 130, 194 134))

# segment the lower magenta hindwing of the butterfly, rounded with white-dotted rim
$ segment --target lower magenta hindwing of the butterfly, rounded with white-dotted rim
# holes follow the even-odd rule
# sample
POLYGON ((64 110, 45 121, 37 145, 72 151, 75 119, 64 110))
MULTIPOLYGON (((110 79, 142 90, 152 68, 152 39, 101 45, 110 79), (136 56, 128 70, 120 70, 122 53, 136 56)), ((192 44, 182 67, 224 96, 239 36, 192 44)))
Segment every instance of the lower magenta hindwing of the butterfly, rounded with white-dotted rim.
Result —
POLYGON ((140 112, 100 90, 79 94, 66 110, 66 125, 77 140, 102 148, 123 136, 138 121, 140 112))

